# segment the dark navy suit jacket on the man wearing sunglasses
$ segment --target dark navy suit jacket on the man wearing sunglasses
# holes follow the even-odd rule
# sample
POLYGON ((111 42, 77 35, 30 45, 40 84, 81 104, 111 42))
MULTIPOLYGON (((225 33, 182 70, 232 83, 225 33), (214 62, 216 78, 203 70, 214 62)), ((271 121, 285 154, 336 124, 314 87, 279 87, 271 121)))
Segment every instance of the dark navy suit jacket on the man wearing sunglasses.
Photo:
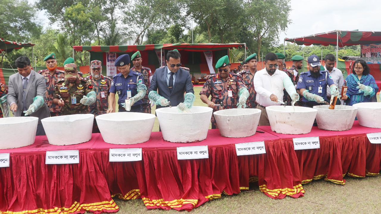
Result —
MULTIPOLYGON (((184 92, 193 93, 193 85, 191 75, 189 71, 179 69, 176 72, 176 77, 174 79, 174 85, 172 93, 169 91, 168 84, 166 83, 167 67, 158 68, 155 70, 152 76, 151 83, 149 85, 149 92, 156 91, 158 89, 158 94, 168 99, 172 106, 177 106, 180 102, 184 102, 184 92)), ((157 105, 156 108, 162 108, 164 106, 157 105)))

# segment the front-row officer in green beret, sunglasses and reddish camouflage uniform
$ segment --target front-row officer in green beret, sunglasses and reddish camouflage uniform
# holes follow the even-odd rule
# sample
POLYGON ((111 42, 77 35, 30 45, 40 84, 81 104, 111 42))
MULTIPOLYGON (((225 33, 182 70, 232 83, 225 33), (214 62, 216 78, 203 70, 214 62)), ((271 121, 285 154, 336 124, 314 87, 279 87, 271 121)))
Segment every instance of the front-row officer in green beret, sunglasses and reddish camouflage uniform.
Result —
MULTIPOLYGON (((245 108, 249 96, 241 76, 230 72, 229 57, 223 56, 216 63, 217 74, 209 75, 200 91, 202 102, 213 108, 213 112, 222 109, 245 108), (211 96, 210 100, 208 97, 211 96), (215 106, 215 105, 220 106, 215 106)), ((211 118, 212 129, 217 129, 214 115, 211 118)))

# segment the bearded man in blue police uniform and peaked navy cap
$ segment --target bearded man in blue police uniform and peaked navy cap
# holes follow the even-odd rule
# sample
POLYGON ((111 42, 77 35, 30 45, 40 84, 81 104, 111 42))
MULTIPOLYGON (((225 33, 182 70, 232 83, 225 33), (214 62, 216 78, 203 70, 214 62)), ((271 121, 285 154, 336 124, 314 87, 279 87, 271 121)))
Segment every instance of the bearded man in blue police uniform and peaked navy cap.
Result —
POLYGON ((303 95, 304 107, 323 105, 327 103, 327 85, 330 86, 332 96, 339 96, 339 90, 329 73, 320 70, 319 57, 308 57, 309 71, 302 72, 298 80, 297 89, 303 95))

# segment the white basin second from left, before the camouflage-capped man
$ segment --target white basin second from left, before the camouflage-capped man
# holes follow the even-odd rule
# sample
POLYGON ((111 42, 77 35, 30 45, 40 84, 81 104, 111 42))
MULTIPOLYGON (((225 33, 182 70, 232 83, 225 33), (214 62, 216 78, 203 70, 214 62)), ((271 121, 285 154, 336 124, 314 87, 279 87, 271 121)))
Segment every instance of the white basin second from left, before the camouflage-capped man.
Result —
POLYGON ((76 114, 47 117, 41 122, 50 144, 73 145, 90 141, 94 115, 76 114))

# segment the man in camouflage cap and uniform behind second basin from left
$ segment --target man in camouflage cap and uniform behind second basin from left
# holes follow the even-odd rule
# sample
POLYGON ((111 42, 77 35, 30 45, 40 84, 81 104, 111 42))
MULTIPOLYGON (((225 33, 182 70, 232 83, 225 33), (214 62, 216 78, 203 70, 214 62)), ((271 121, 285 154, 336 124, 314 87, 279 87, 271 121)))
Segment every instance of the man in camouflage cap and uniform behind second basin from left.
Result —
POLYGON ((74 63, 66 64, 64 70, 65 78, 56 84, 53 103, 62 107, 62 115, 88 113, 88 105, 96 100, 93 85, 88 78, 78 77, 74 63))

